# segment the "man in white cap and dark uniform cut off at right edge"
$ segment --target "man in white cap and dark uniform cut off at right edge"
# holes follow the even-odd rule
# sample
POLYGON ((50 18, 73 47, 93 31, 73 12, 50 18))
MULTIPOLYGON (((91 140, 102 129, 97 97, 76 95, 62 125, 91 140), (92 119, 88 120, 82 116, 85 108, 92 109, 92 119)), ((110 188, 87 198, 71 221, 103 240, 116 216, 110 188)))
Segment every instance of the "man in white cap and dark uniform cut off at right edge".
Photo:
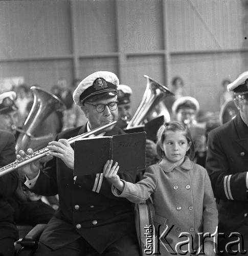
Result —
POLYGON ((216 197, 219 232, 224 233, 219 248, 225 255, 241 255, 248 250, 248 71, 228 90, 235 94, 239 113, 209 133, 206 169, 216 197))

